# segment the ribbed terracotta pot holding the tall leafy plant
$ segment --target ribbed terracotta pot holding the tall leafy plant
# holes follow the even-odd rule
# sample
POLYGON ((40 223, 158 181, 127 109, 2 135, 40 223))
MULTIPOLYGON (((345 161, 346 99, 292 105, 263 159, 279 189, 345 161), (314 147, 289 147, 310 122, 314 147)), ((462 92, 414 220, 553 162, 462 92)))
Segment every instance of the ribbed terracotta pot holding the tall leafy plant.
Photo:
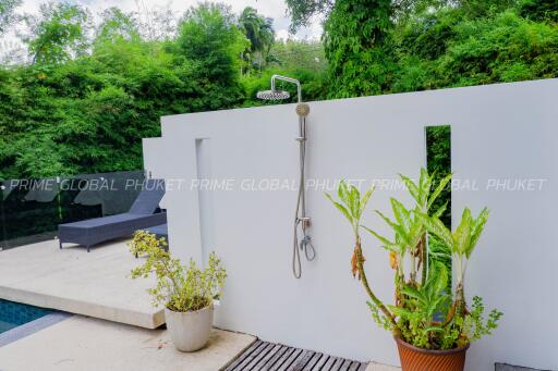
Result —
POLYGON ((422 349, 395 337, 402 371, 463 371, 469 345, 450 350, 422 349))

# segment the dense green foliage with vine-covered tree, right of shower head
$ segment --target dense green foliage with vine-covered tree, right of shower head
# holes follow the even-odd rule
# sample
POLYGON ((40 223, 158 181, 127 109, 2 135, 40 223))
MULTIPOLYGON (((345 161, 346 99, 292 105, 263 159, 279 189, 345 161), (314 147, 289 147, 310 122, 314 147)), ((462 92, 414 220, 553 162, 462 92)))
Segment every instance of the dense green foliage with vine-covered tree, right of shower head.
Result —
POLYGON ((556 77, 557 0, 289 0, 325 12, 331 98, 556 77))

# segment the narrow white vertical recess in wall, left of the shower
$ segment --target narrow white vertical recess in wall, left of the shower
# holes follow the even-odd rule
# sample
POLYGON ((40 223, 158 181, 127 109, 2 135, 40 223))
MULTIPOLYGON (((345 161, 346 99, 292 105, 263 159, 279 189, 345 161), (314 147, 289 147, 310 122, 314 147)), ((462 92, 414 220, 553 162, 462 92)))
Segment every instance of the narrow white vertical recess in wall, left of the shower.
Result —
POLYGON ((208 138, 196 139, 197 199, 199 209, 199 238, 202 244, 202 263, 205 265, 214 248, 213 193, 210 189, 211 161, 208 138))

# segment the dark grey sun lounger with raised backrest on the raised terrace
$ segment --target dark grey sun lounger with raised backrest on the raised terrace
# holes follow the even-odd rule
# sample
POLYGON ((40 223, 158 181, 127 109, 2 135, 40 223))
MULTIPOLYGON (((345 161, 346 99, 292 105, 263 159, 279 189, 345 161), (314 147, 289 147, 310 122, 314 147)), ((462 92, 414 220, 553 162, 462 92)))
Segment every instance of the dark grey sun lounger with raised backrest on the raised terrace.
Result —
POLYGON ((129 212, 60 224, 58 226, 60 248, 64 243, 73 243, 85 246, 89 252, 90 247, 97 244, 132 235, 137 230, 167 223, 166 212, 155 213, 163 195, 165 183, 159 180, 149 180, 129 212))

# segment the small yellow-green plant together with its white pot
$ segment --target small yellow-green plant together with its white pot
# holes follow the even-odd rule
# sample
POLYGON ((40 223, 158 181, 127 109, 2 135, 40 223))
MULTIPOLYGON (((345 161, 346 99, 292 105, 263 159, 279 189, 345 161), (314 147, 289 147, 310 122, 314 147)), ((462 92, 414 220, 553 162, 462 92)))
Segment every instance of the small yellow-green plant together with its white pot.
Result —
POLYGON ((205 269, 194 260, 184 267, 166 251, 167 243, 155 234, 136 232, 130 244, 134 256, 146 256, 143 265, 132 270, 132 279, 155 274, 157 285, 148 289, 155 306, 165 306, 167 329, 181 351, 202 349, 214 322, 214 299, 220 295, 227 273, 215 252, 205 269))

